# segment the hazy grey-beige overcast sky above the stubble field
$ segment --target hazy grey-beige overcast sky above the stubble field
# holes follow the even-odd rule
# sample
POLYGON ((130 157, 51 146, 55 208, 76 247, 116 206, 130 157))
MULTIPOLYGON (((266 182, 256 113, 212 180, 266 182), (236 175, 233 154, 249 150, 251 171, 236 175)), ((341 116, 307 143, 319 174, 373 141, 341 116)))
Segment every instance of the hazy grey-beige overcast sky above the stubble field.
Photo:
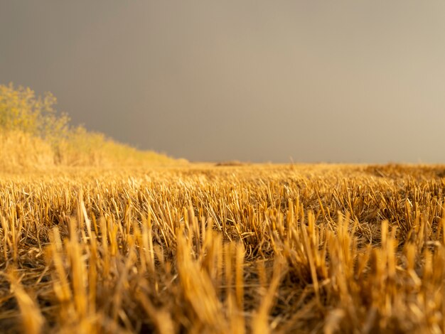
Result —
POLYGON ((445 1, 1 1, 0 83, 191 161, 445 163, 445 1))

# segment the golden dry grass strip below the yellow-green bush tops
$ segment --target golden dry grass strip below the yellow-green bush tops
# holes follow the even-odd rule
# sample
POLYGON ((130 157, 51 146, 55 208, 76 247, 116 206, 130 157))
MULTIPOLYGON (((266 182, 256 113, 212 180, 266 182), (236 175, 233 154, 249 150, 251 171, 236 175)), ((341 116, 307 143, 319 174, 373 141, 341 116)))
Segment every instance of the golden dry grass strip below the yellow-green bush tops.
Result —
POLYGON ((0 171, 32 172, 80 166, 112 168, 184 164, 154 151, 138 151, 130 146, 104 139, 99 134, 72 134, 55 148, 50 142, 23 131, 4 131, 0 127, 0 171))

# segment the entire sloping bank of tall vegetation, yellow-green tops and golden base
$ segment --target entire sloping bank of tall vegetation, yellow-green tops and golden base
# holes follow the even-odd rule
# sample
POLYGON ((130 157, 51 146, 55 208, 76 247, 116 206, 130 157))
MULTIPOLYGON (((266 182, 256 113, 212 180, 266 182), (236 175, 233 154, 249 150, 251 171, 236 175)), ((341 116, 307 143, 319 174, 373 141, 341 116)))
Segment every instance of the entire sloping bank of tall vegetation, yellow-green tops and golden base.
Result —
POLYGON ((0 85, 0 168, 48 166, 112 166, 115 164, 168 163, 159 153, 138 151, 103 134, 70 126, 67 114, 55 109, 48 93, 0 85))

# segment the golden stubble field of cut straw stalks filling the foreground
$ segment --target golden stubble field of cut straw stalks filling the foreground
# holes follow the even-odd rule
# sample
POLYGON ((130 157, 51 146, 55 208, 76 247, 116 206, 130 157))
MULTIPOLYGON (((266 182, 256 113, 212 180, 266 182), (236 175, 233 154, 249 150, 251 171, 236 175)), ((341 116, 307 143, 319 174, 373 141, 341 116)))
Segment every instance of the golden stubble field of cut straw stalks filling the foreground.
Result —
POLYGON ((1 173, 0 328, 443 333, 444 177, 323 164, 1 173))

